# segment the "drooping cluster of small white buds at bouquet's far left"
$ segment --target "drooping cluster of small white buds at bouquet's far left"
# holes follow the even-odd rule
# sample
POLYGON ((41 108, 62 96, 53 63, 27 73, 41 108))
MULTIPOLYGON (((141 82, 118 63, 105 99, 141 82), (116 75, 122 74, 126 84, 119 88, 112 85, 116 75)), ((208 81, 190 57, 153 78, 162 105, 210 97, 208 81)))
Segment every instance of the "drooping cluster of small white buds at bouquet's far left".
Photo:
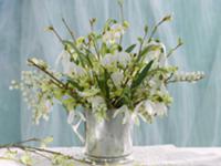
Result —
MULTIPOLYGON (((49 79, 39 71, 22 71, 21 82, 11 81, 10 90, 20 89, 28 108, 33 111, 33 120, 38 124, 41 117, 48 120, 51 102, 51 91, 43 93, 42 85, 49 84, 49 79)), ((46 86, 45 86, 46 89, 46 86)))

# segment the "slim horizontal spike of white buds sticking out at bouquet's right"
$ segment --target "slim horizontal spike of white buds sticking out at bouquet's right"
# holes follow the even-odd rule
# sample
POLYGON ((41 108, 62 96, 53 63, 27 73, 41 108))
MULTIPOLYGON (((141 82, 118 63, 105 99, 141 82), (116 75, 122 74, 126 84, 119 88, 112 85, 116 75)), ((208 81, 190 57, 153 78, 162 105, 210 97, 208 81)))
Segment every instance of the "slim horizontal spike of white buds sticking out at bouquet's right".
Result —
POLYGON ((187 81, 187 82, 196 82, 198 80, 201 80, 204 77, 203 72, 180 72, 173 75, 172 82, 180 82, 180 81, 187 81))

